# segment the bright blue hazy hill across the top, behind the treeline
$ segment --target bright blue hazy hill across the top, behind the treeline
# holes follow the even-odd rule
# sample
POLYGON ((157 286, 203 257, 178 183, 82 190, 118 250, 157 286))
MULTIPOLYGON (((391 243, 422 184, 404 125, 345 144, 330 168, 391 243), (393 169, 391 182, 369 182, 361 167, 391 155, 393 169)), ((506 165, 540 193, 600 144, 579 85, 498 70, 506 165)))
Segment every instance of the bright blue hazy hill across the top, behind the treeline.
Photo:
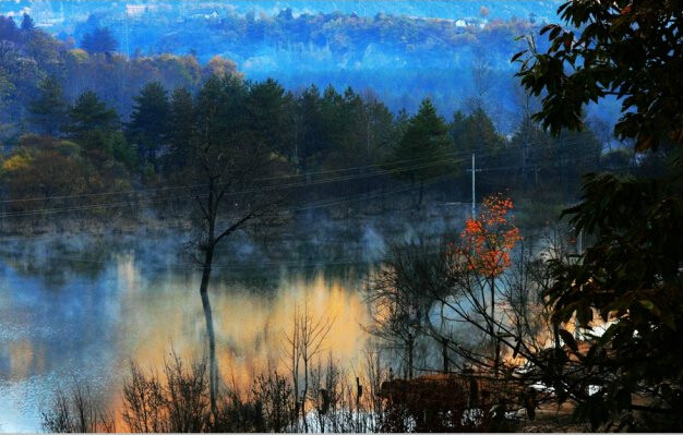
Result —
MULTIPOLYGON (((483 96, 496 125, 516 123, 511 57, 556 21, 558 1, 2 1, 36 26, 82 47, 107 27, 129 57, 193 53, 236 62, 250 80, 297 90, 315 84, 373 93, 393 110, 429 96, 450 117, 483 96), (475 75, 480 75, 475 80, 475 75)), ((542 43, 542 40, 541 40, 542 43)))

